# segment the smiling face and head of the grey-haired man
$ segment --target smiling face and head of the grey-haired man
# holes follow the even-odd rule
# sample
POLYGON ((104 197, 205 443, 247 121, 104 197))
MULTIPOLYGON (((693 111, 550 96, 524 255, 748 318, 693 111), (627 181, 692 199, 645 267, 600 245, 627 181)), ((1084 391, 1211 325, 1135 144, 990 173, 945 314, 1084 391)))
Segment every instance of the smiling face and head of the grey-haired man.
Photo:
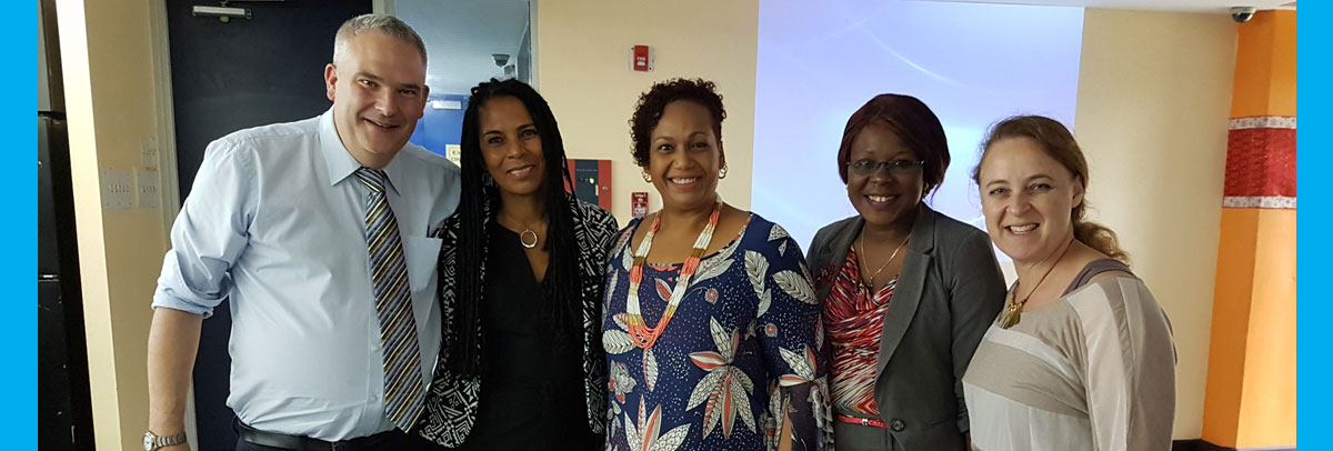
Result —
POLYGON ((412 44, 376 31, 347 39, 340 60, 324 68, 333 124, 361 165, 393 160, 425 109, 425 61, 412 44))

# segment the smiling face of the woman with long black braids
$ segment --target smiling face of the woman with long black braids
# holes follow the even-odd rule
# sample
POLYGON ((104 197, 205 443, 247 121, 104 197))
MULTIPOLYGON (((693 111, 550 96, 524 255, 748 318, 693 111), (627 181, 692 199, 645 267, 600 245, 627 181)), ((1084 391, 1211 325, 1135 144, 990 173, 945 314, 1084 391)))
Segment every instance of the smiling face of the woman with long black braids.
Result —
POLYGON ((516 97, 492 97, 477 115, 481 159, 487 172, 508 196, 532 196, 541 191, 545 157, 541 133, 532 115, 516 97))

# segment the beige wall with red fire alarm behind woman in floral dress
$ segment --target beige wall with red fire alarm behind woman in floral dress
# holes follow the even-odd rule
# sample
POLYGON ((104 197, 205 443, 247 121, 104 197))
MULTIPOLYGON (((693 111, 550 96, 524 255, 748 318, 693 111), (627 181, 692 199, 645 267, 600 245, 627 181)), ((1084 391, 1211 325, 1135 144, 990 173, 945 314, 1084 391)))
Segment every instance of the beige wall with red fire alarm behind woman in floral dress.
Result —
POLYGON ((628 121, 639 95, 670 77, 717 83, 729 167, 717 191, 749 208, 758 0, 535 0, 533 8, 537 87, 556 112, 569 157, 613 161, 612 212, 621 224, 631 217, 633 191, 648 192, 651 211, 661 207, 631 157, 628 121), (653 47, 655 72, 629 71, 636 44, 653 47))

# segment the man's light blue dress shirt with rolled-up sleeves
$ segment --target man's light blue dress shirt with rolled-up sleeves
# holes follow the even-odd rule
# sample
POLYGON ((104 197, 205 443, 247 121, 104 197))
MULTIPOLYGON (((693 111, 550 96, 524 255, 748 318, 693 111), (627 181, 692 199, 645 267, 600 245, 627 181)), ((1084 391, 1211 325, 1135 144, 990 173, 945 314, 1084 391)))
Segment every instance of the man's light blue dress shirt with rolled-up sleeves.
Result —
MULTIPOLYGON (((239 131, 208 145, 172 226, 153 307, 212 315, 231 296, 227 404, 255 428, 323 440, 393 428, 357 168, 332 109, 239 131)), ((429 382, 440 351, 433 235, 459 205, 459 168, 407 144, 384 172, 429 382)))

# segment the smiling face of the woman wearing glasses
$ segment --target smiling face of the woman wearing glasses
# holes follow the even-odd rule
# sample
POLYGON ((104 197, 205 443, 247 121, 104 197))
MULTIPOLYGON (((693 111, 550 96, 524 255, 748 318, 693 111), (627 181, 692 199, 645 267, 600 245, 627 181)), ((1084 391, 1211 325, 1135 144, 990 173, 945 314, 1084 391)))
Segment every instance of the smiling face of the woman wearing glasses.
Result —
MULTIPOLYGON (((848 163, 853 164, 900 160, 916 163, 921 157, 902 143, 892 127, 878 121, 865 125, 848 152, 848 163)), ((849 168, 846 173, 846 197, 869 226, 910 224, 921 204, 922 191, 920 165, 909 171, 876 168, 872 173, 849 168)))

